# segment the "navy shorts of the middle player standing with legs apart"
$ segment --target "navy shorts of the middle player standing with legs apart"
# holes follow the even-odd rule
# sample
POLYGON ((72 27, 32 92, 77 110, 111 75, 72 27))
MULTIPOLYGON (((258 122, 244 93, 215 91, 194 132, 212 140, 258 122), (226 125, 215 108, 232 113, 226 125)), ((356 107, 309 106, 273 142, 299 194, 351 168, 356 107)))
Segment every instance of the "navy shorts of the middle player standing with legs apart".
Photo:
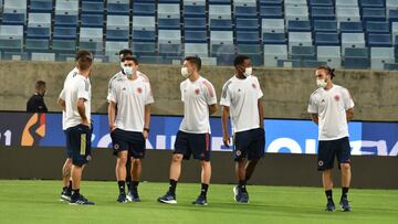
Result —
POLYGON ((172 153, 184 154, 185 160, 193 159, 210 161, 210 135, 188 134, 179 130, 172 153))

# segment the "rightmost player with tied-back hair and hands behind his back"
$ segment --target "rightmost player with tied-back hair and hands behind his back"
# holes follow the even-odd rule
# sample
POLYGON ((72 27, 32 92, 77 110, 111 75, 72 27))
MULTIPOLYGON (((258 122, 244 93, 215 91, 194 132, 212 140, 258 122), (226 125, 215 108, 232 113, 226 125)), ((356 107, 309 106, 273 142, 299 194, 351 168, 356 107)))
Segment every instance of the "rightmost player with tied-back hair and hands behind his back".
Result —
POLYGON ((347 193, 350 184, 350 146, 348 121, 354 117, 354 102, 349 92, 333 83, 334 70, 320 66, 315 72, 318 88, 311 95, 308 113, 318 126, 317 169, 322 171, 327 203, 326 211, 334 212, 332 169, 337 158, 342 171, 342 211, 349 212, 347 193))

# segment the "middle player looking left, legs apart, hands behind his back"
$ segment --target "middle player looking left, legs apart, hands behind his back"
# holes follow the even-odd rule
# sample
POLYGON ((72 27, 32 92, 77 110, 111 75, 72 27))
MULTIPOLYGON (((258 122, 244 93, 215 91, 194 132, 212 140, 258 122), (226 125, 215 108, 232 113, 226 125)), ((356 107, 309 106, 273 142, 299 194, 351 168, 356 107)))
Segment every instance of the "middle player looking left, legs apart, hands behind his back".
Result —
POLYGON ((181 75, 186 78, 180 84, 184 119, 177 132, 171 158, 169 190, 158 199, 160 203, 177 203, 176 188, 181 173, 181 162, 192 154, 201 164, 201 191, 192 203, 207 205, 211 177, 209 116, 217 111, 217 96, 211 83, 199 75, 200 67, 201 60, 198 56, 186 57, 181 67, 181 75))

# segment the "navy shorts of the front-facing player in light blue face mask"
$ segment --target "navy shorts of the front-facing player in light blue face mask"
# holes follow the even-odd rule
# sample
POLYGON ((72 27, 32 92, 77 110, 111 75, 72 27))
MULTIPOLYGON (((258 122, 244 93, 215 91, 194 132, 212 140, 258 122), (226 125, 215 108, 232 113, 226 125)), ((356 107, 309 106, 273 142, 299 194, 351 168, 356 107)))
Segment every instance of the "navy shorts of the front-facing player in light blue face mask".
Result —
POLYGON ((111 138, 115 156, 121 151, 128 151, 128 154, 135 159, 143 159, 145 157, 146 140, 143 132, 116 128, 111 132, 111 138))

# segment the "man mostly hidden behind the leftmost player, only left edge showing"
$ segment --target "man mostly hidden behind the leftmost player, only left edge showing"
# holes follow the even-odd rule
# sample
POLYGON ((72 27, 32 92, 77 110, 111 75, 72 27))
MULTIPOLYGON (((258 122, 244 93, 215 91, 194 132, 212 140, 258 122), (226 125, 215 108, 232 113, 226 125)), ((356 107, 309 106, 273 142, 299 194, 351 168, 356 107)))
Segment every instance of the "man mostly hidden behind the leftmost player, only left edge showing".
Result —
MULTIPOLYGON (((75 56, 75 62, 76 62, 76 66, 77 66, 77 61, 80 57, 82 56, 87 56, 91 55, 90 52, 87 51, 78 51, 76 53, 75 56)), ((57 99, 57 104, 61 106, 62 108, 62 130, 65 134, 65 138, 66 138, 66 114, 65 114, 65 85, 66 83, 72 78, 75 77, 78 73, 77 67, 74 67, 67 75, 66 78, 64 81, 64 85, 63 88, 61 90, 60 97, 57 99)), ((72 169, 72 150, 70 150, 69 147, 69 142, 66 141, 66 160, 62 167, 62 183, 63 183, 63 188, 62 188, 62 192, 61 192, 61 198, 60 200, 62 201, 66 201, 70 202, 71 201, 71 195, 72 195, 72 180, 71 180, 71 169, 72 169)))

